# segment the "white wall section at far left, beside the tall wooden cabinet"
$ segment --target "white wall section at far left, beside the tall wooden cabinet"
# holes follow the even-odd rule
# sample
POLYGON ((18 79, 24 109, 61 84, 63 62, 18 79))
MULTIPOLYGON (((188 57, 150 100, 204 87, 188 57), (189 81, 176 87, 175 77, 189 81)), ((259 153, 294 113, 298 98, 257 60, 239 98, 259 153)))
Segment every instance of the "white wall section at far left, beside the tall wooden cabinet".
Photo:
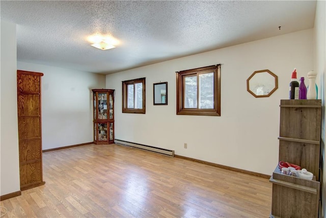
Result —
POLYGON ((0 196, 20 190, 16 25, 1 21, 0 196))

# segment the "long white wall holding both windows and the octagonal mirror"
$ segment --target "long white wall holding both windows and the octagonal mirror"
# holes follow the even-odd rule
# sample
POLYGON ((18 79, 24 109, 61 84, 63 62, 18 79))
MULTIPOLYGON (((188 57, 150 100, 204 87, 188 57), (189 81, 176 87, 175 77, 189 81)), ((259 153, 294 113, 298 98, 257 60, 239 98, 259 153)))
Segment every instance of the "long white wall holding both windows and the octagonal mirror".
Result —
POLYGON ((294 67, 298 77, 313 69, 312 40, 310 29, 107 75, 106 88, 116 89, 115 137, 270 175, 278 163, 280 100, 288 99, 294 67), (222 115, 176 115, 175 71, 218 63, 222 115), (279 88, 269 98, 254 98, 246 80, 262 69, 278 76, 279 88), (146 77, 146 114, 122 113, 121 81, 141 77, 146 77), (168 106, 153 106, 157 82, 168 82, 168 106))

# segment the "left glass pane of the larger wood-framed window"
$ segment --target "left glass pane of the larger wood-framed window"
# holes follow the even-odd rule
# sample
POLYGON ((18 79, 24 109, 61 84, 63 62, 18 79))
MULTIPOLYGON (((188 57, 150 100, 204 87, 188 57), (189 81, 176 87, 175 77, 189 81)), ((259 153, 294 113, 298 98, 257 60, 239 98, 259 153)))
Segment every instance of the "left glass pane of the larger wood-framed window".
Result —
POLYGON ((197 76, 184 78, 184 108, 197 108, 197 76))

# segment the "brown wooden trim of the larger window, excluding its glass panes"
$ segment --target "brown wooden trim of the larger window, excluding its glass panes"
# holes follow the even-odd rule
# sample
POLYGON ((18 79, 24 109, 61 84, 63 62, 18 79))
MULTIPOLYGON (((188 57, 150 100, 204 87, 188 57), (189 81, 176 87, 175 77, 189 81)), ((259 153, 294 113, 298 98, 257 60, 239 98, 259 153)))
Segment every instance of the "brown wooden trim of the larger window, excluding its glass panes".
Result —
MULTIPOLYGON (((177 115, 204 115, 204 116, 221 116, 221 64, 188 69, 179 71, 176 74, 177 79, 177 115), (198 109, 184 108, 184 78, 197 76, 207 72, 214 72, 214 108, 198 109)), ((199 96, 197 95, 197 98, 199 96)), ((198 101, 197 101, 198 102, 198 101)))

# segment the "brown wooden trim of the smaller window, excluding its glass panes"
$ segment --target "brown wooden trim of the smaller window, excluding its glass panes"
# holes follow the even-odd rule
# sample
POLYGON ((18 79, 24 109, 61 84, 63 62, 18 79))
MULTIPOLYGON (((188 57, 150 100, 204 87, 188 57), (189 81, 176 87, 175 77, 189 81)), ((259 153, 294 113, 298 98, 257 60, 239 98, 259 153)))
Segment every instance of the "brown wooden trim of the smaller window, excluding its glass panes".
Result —
MULTIPOLYGON (((122 81, 122 113, 146 113, 146 78, 139 78, 134 80, 126 80, 122 81), (135 84, 135 83, 142 83, 143 84, 143 108, 142 109, 135 109, 135 108, 127 108, 127 85, 135 84)), ((135 92, 133 92, 134 94, 135 92)))

